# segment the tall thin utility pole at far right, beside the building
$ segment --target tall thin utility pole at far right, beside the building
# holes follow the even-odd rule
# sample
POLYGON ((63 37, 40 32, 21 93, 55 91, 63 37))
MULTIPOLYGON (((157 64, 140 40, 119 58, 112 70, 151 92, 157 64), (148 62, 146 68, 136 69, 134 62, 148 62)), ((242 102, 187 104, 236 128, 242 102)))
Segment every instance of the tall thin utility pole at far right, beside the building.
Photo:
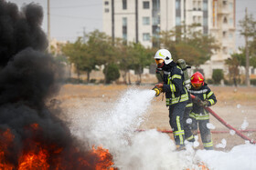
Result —
POLYGON ((247 15, 247 7, 245 8, 245 57, 246 57, 246 64, 245 64, 245 81, 246 85, 250 86, 250 74, 249 74, 249 68, 250 68, 250 58, 249 58, 249 46, 248 46, 248 34, 249 34, 249 27, 248 27, 248 15, 247 15))

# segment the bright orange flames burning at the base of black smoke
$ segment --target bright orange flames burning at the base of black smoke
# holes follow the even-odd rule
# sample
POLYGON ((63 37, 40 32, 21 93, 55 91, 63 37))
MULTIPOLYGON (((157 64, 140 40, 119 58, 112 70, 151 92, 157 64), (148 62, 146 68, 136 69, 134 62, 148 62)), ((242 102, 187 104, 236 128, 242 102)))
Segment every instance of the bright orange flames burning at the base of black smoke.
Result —
MULTIPOLYGON (((38 124, 24 127, 32 133, 40 133, 42 130, 38 124)), ((37 135, 36 135, 37 136, 37 135)), ((113 167, 112 155, 108 149, 101 146, 91 148, 91 151, 80 151, 76 146, 63 148, 58 144, 45 144, 37 138, 24 139, 24 147, 21 153, 12 153, 15 135, 10 129, 0 130, 0 169, 2 170, 65 170, 71 169, 96 169, 96 170, 116 170, 113 167), (19 155, 17 163, 9 162, 9 158, 19 155)))

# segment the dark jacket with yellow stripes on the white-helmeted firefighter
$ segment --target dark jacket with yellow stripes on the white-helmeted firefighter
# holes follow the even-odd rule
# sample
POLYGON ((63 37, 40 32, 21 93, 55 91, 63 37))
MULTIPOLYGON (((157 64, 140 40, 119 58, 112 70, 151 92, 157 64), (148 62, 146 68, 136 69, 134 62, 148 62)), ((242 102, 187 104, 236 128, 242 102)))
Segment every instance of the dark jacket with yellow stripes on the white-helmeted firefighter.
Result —
POLYGON ((175 62, 165 66, 163 79, 166 105, 174 105, 188 100, 187 88, 183 83, 183 72, 175 62))

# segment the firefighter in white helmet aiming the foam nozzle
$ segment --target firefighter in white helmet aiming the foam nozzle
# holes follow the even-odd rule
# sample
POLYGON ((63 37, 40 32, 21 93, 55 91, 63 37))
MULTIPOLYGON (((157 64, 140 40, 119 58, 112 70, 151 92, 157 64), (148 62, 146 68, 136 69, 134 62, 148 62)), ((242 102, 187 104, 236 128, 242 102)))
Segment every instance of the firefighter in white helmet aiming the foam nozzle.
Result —
POLYGON ((184 75, 166 49, 160 49, 155 53, 155 63, 157 71, 163 72, 164 81, 156 86, 163 88, 165 92, 166 106, 169 106, 169 124, 174 131, 176 147, 180 150, 185 146, 183 116, 188 100, 187 89, 183 85, 184 75))

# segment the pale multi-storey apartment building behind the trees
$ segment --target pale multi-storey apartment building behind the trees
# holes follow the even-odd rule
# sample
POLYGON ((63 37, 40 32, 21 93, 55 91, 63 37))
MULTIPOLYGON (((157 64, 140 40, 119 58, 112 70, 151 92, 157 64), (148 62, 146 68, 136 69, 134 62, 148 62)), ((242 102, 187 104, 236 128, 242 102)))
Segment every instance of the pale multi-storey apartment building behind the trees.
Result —
POLYGON ((201 65, 206 77, 213 69, 227 71, 224 60, 235 51, 235 0, 103 0, 103 32, 112 38, 154 46, 151 37, 182 23, 200 24, 197 30, 218 40, 219 51, 201 65))

